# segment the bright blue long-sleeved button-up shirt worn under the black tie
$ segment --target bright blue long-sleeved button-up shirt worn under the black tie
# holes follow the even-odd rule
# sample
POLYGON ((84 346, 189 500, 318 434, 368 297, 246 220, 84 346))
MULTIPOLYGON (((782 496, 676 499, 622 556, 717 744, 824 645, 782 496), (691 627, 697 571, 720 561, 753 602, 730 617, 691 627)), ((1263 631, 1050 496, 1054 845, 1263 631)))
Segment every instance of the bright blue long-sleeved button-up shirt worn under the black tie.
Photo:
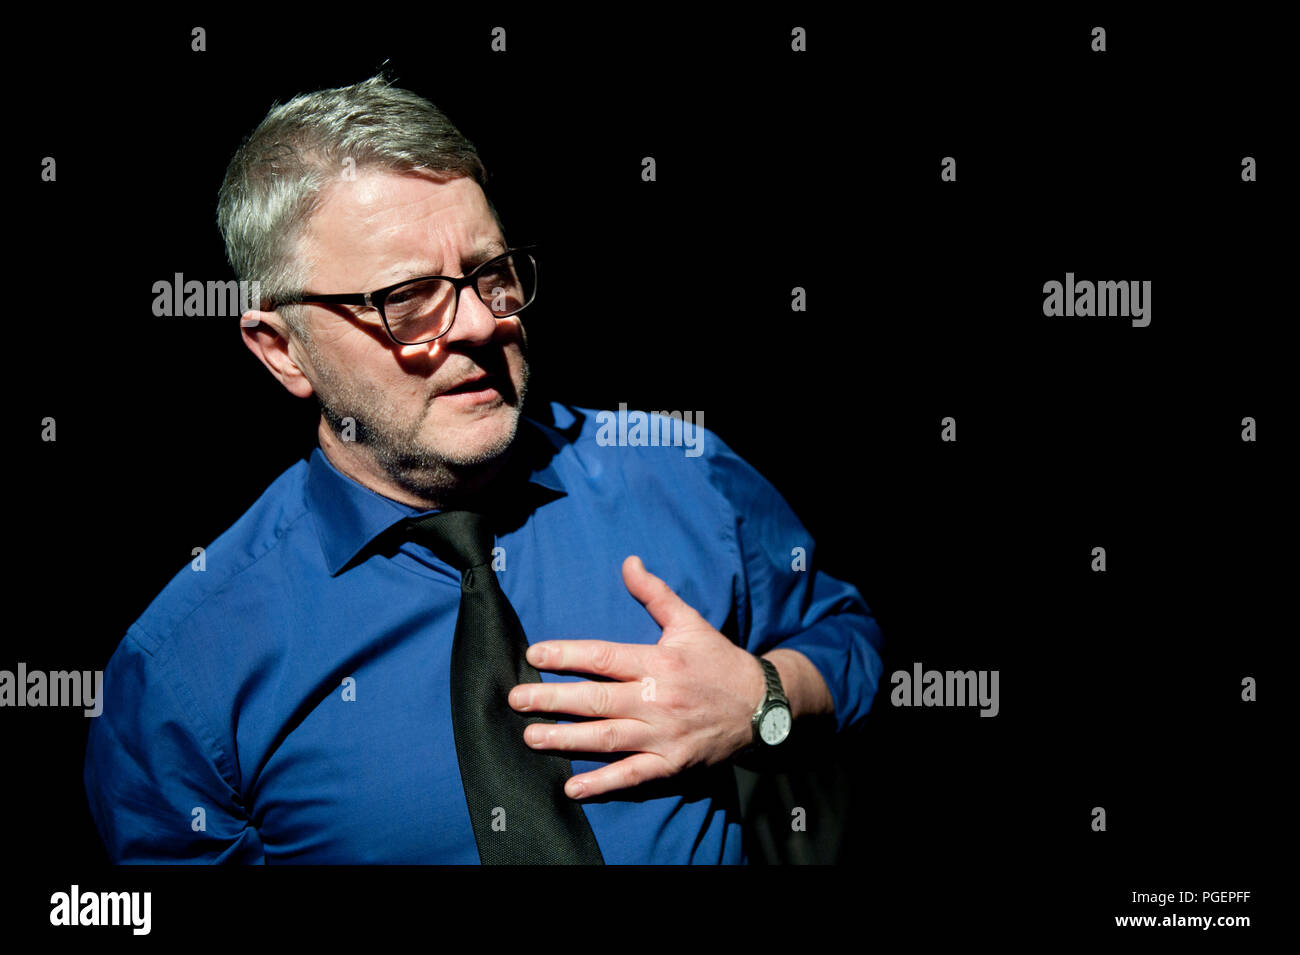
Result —
MULTIPOLYGON (((805 654, 840 730, 863 720, 880 630, 767 479, 703 429, 693 456, 610 447, 595 413, 550 413, 520 421, 536 499, 497 537, 530 643, 656 643, 623 583, 638 554, 746 650, 805 654)), ((113 861, 478 861, 451 729, 460 573, 412 541, 378 546, 421 513, 316 448, 166 585, 109 660, 90 730, 86 793, 113 861)), ((746 861, 728 764, 646 786, 582 803, 607 863, 746 861)))

